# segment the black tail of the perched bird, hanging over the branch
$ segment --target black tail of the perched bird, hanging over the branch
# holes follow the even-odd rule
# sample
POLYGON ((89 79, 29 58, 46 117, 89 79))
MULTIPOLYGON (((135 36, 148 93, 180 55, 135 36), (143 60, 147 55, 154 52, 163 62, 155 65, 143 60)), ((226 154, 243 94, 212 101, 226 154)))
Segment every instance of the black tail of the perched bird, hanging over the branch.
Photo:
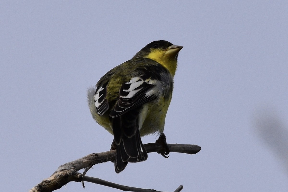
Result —
POLYGON ((147 159, 147 151, 139 133, 137 111, 131 110, 113 118, 112 128, 116 144, 116 173, 123 171, 128 162, 134 163, 147 159))

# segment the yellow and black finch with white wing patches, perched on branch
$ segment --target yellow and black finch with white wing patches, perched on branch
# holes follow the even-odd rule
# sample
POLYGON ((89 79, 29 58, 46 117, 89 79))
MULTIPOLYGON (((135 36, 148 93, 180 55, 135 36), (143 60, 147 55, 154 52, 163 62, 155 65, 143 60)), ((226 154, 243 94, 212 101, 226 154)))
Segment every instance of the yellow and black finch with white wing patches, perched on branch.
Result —
POLYGON ((88 88, 92 117, 114 136, 111 150, 116 149, 116 173, 128 162, 147 159, 141 141, 146 135, 158 133, 156 143, 164 149, 158 153, 168 157, 170 150, 163 131, 182 48, 164 40, 153 41, 88 88))

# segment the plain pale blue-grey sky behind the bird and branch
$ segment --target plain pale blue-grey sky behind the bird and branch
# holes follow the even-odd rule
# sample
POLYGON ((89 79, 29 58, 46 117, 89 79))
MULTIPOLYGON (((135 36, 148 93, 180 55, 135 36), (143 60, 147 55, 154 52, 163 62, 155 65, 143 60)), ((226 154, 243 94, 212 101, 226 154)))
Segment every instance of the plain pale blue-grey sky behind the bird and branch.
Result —
MULTIPOLYGON (((287 10, 287 1, 1 1, 2 191, 28 191, 61 164, 109 150, 86 90, 155 40, 183 46, 167 142, 202 150, 87 175, 160 191, 288 191, 287 10)), ((118 191, 58 191, 104 190, 118 191)))

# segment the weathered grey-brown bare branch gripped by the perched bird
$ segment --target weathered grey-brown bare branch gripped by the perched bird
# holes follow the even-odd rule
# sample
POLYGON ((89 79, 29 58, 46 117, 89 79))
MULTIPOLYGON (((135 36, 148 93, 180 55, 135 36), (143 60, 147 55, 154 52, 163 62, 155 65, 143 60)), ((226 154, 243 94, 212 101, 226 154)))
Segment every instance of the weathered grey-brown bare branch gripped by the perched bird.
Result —
MULTIPOLYGON (((198 145, 182 145, 182 144, 167 144, 167 145, 170 149, 170 152, 177 152, 177 153, 195 154, 195 153, 198 153, 201 149, 198 145)), ((148 143, 148 144, 145 144, 144 147, 148 153, 158 152, 158 151, 163 150, 162 146, 156 143, 148 143)), ((66 185, 70 181, 75 181, 75 182, 81 182, 84 180, 88 181, 89 179, 91 179, 91 177, 87 177, 81 173, 78 173, 79 170, 87 168, 85 169, 85 173, 86 173, 93 165, 111 161, 113 159, 115 159, 115 150, 106 151, 102 153, 91 153, 75 161, 71 161, 69 163, 63 164, 59 166, 59 168, 49 178, 44 179, 38 185, 35 185, 35 187, 33 187, 29 192, 51 192, 56 189, 60 189, 63 185, 66 185)), ((94 178, 94 179, 97 179, 97 178, 94 178)), ((115 185, 118 185, 118 184, 115 184, 115 185)), ((109 187, 111 187, 111 185, 109 185, 109 187)), ((183 188, 183 186, 181 189, 180 188, 181 186, 179 186, 178 189, 175 190, 175 192, 177 190, 180 191, 183 188)), ((132 188, 129 188, 129 189, 132 189, 132 188)), ((135 189, 139 189, 139 188, 135 188, 135 189)), ((142 190, 146 190, 145 192, 148 192, 147 190, 151 190, 151 189, 142 189, 142 190)))

